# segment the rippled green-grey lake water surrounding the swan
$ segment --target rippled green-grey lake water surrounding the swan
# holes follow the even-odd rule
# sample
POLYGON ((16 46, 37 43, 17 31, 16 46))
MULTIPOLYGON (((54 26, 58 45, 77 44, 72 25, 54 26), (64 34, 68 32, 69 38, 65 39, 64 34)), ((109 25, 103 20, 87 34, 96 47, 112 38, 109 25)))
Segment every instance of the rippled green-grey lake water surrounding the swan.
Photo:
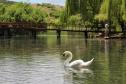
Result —
POLYGON ((126 40, 84 39, 78 34, 0 39, 0 84, 125 84, 126 40), (95 58, 88 69, 69 71, 61 54, 95 58))

